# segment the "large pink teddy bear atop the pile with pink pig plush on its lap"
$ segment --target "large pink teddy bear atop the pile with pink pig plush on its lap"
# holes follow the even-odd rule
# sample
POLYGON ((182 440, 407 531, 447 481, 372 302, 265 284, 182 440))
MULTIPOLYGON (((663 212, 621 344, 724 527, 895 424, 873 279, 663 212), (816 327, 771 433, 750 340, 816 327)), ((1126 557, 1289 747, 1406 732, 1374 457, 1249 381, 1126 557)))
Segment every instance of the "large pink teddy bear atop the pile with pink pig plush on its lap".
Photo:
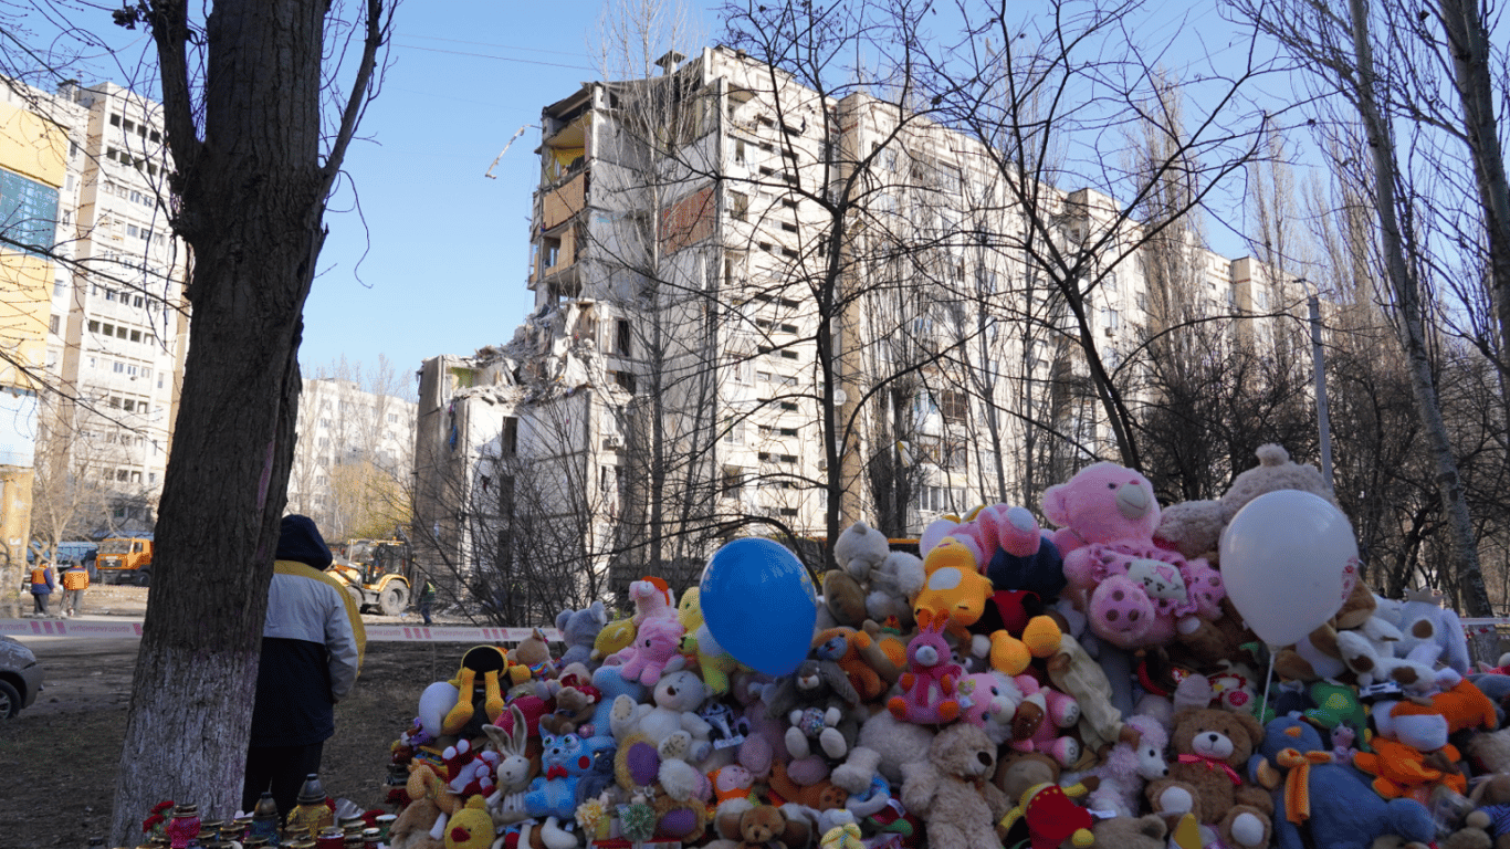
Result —
POLYGON ((1160 511, 1148 477, 1114 462, 1089 465, 1043 492, 1043 515, 1060 526, 1054 542, 1069 594, 1101 639, 1128 650, 1163 645, 1182 621, 1222 615, 1222 576, 1154 544, 1160 511))

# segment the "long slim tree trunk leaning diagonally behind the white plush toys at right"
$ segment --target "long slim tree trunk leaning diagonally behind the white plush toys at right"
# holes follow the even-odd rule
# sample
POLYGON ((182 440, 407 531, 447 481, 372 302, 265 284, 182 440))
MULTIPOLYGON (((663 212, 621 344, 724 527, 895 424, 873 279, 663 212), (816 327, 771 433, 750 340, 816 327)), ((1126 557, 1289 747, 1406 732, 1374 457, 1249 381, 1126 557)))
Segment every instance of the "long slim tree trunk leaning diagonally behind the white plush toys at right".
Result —
POLYGON ((1421 320, 1421 293, 1415 276, 1406 263, 1404 237, 1395 216, 1395 153, 1391 127, 1374 98, 1374 59, 1368 42, 1368 9, 1364 0, 1350 0, 1353 18, 1353 51, 1357 62, 1356 104, 1364 127, 1368 131, 1370 150, 1374 159, 1374 207, 1379 213, 1379 231, 1383 242, 1386 276, 1395 295, 1398 311, 1400 344, 1406 352, 1406 370, 1410 375, 1410 390, 1415 394, 1416 411, 1425 431, 1431 459, 1436 465, 1436 485, 1447 514, 1448 538, 1453 541, 1453 573, 1463 588, 1463 598, 1471 616, 1492 616, 1489 591, 1478 571, 1478 542, 1474 538, 1472 518, 1463 479, 1457 473, 1453 443, 1442 420, 1442 405, 1431 378, 1431 363, 1425 349, 1425 331, 1421 320))

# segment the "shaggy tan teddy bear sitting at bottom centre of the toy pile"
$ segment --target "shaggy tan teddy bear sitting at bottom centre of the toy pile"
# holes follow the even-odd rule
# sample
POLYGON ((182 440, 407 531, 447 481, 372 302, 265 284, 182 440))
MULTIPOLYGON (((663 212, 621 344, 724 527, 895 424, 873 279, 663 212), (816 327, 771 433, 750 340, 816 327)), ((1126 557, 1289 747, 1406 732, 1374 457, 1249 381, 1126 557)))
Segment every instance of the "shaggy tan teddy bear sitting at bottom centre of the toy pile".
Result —
POLYGON ((926 761, 906 767, 901 805, 927 823, 933 849, 997 846, 994 825, 1012 802, 991 778, 997 745, 968 722, 939 731, 926 761))

